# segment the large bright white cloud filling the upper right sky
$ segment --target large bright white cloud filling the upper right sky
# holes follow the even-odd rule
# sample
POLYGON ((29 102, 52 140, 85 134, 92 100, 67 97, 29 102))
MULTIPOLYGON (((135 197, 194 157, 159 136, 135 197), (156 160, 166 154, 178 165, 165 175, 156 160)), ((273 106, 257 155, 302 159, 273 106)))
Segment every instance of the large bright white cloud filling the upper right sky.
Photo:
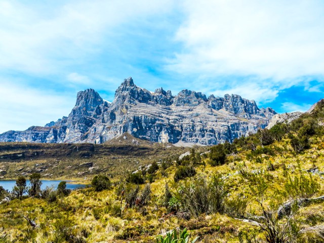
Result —
POLYGON ((269 99, 307 76, 323 76, 322 1, 188 0, 183 9, 185 21, 175 36, 183 49, 169 60, 168 70, 254 77, 229 80, 225 89, 233 90, 253 86, 255 77, 271 80, 257 86, 259 97, 265 89, 274 90, 269 99))

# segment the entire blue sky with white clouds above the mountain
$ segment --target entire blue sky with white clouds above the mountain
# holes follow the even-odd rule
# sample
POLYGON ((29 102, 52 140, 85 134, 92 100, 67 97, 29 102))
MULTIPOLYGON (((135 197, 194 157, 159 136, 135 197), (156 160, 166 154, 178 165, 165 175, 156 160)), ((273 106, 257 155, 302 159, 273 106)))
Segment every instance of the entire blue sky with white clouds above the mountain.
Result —
POLYGON ((0 0, 0 133, 112 101, 124 78, 238 94, 278 113, 324 98, 324 2, 0 0))

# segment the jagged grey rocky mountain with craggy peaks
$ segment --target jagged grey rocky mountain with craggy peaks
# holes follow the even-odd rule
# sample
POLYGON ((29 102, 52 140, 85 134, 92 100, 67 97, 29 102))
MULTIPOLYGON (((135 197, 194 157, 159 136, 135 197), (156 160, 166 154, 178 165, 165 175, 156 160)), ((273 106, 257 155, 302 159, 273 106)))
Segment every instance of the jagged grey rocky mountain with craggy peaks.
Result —
POLYGON ((0 134, 3 142, 104 143, 128 133, 151 142, 213 145, 265 128, 276 112, 259 109, 255 101, 182 90, 177 96, 163 88, 153 92, 131 77, 115 92, 112 103, 93 89, 77 93, 71 113, 45 127, 0 134))

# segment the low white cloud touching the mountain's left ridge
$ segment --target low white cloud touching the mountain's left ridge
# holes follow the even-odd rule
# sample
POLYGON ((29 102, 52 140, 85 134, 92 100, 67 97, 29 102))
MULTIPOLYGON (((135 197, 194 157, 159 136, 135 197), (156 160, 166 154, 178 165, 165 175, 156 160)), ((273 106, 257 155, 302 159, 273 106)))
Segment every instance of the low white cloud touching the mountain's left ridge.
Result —
POLYGON ((64 93, 39 91, 5 83, 0 89, 0 133, 26 130, 30 126, 44 126, 51 120, 68 115, 75 97, 64 93))

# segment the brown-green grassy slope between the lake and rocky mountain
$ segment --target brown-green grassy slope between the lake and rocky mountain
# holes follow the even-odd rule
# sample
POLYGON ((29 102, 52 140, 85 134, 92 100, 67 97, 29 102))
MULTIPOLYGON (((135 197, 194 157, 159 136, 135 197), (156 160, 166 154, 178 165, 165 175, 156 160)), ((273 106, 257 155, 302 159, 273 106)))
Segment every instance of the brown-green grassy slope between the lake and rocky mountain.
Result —
POLYGON ((183 149, 129 134, 107 144, 0 143, 0 179, 40 173, 46 179, 90 183, 94 175, 104 173, 118 180, 152 159, 173 160, 183 149))

